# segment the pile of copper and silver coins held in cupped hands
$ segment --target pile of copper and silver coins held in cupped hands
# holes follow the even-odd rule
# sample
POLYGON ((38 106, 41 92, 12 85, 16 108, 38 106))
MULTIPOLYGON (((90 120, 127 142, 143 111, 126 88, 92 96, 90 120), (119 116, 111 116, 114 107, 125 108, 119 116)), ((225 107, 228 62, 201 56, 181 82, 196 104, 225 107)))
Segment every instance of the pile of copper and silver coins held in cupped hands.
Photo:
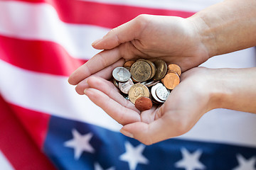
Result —
POLYGON ((171 90, 180 83, 181 68, 177 64, 167 66, 164 60, 140 59, 115 68, 112 76, 122 95, 139 111, 146 111, 153 104, 166 101, 171 90))

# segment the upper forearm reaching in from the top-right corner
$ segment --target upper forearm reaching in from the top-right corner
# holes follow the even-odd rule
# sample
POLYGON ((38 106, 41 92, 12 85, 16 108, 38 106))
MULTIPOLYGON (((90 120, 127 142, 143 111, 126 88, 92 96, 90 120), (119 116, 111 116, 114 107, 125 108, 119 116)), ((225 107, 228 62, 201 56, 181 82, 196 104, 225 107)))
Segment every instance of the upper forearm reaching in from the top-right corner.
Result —
POLYGON ((255 0, 226 0, 188 19, 213 57, 256 45, 255 8, 255 0))

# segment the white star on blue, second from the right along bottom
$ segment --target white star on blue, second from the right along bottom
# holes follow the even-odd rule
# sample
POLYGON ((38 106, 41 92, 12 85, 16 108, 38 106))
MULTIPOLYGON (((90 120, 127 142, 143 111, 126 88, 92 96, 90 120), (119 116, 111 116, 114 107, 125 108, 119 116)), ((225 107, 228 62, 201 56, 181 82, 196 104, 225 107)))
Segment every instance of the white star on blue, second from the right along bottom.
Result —
POLYGON ((202 154, 201 150, 197 150, 196 152, 193 152, 191 154, 188 152, 187 149, 182 148, 181 153, 182 153, 183 159, 176 162, 175 166, 177 168, 183 168, 186 170, 205 169, 206 168, 206 166, 204 166, 201 162, 199 162, 199 158, 202 154))

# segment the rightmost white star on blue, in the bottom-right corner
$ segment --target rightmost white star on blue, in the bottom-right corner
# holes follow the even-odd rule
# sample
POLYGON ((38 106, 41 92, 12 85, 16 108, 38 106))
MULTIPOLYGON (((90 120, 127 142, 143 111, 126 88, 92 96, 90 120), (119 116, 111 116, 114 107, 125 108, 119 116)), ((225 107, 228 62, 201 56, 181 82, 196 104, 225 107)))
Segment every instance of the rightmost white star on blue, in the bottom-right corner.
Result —
POLYGON ((233 170, 256 170, 255 169, 255 163, 256 163, 256 157, 252 157, 250 159, 245 159, 245 157, 242 157, 241 154, 237 155, 238 159, 238 166, 235 167, 233 170))

